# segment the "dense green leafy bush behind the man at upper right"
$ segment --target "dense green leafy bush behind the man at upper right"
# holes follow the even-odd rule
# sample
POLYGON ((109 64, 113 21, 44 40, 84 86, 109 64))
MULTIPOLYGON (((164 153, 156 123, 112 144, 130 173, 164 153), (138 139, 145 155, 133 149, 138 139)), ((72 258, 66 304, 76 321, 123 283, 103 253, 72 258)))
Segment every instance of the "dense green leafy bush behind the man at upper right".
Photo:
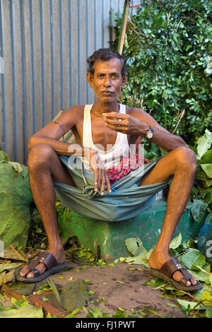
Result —
POLYGON ((127 25, 129 81, 121 101, 143 108, 193 146, 212 116, 211 1, 142 2, 127 25))

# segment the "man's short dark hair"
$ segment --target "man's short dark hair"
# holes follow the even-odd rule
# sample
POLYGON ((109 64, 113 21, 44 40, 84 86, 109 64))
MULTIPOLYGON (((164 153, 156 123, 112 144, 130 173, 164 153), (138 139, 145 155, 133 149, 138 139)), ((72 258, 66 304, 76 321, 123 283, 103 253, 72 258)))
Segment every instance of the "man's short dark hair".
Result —
POLYGON ((88 72, 94 74, 95 61, 109 61, 110 59, 117 58, 122 63, 122 77, 127 73, 126 58, 124 55, 119 54, 115 49, 98 49, 90 57, 88 57, 88 72))

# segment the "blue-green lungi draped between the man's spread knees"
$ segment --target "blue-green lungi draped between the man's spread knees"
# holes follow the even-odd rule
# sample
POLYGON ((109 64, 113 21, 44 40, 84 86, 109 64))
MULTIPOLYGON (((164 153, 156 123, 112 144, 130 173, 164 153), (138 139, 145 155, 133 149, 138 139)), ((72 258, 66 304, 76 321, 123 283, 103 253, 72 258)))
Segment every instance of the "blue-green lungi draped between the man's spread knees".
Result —
MULTIPOLYGON (((129 220, 151 208, 156 194, 162 190, 167 182, 139 186, 142 177, 156 165, 158 160, 144 164, 119 181, 111 184, 111 193, 106 191, 104 196, 100 190, 94 191, 94 173, 87 172, 83 163, 81 167, 73 167, 69 157, 59 156, 67 167, 76 188, 59 182, 54 182, 57 197, 71 211, 87 218, 115 222, 129 220)), ((79 158, 76 158, 78 164, 79 158)), ((75 164, 75 165, 76 165, 75 164)))

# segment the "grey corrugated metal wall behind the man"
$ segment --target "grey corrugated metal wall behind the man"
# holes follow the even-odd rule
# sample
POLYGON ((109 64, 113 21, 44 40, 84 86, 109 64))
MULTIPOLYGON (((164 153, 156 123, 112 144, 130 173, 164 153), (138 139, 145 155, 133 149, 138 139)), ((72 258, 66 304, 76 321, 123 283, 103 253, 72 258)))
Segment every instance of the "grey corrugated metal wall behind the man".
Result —
POLYGON ((0 0, 0 146, 26 164, 30 136, 61 107, 92 103, 86 59, 110 47, 124 0, 0 0))

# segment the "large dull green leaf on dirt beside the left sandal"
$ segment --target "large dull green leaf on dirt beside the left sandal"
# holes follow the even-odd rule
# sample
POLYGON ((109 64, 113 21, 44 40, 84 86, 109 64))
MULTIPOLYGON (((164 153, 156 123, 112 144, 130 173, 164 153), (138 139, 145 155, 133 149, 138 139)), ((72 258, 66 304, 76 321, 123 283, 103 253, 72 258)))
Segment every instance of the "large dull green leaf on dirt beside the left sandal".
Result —
POLYGON ((80 307, 86 307, 88 301, 88 291, 81 279, 66 283, 61 289, 61 306, 70 312, 80 307))

